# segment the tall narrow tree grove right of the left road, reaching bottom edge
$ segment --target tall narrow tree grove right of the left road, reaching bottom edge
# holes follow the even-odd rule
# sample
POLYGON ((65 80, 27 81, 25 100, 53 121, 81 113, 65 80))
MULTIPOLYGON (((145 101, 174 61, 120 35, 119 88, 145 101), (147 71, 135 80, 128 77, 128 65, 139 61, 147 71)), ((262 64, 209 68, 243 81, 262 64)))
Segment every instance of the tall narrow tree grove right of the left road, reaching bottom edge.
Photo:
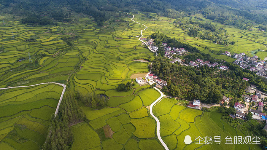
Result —
POLYGON ((59 107, 58 115, 53 118, 47 131, 47 138, 42 149, 70 149, 73 135, 70 126, 85 120, 85 114, 74 98, 74 92, 66 91, 59 107))

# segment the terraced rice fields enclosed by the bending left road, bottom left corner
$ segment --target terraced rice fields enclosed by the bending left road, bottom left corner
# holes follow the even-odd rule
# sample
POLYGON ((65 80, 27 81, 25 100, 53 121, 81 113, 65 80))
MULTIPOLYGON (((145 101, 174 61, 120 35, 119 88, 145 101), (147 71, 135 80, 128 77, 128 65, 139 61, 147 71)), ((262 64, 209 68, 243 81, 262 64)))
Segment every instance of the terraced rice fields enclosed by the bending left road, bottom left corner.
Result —
POLYGON ((63 87, 0 90, 0 149, 40 149, 63 87))

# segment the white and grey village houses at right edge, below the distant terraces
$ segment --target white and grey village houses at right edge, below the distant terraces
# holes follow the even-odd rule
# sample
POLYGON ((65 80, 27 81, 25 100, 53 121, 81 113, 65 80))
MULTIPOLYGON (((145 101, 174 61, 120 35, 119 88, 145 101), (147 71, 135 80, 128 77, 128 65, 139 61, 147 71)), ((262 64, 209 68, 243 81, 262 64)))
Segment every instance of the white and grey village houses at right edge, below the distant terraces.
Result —
MULTIPOLYGON (((224 55, 231 56, 230 52, 223 53, 224 55)), ((248 69, 253 71, 258 76, 267 78, 267 63, 264 60, 260 60, 258 56, 248 57, 244 52, 240 54, 233 54, 235 64, 239 65, 242 69, 248 69)))

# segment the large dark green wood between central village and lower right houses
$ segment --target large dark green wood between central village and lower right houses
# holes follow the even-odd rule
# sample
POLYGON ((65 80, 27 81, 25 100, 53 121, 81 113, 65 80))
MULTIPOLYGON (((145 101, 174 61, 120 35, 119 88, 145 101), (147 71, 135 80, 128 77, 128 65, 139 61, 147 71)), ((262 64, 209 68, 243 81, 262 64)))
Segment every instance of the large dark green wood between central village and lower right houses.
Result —
MULTIPOLYGON (((199 54, 196 53, 196 55, 199 54)), ((163 89, 164 92, 168 91, 175 97, 198 99, 204 103, 218 103, 223 95, 231 93, 236 97, 242 96, 249 85, 246 81, 241 77, 230 78, 229 71, 214 74, 215 71, 219 70, 206 65, 196 69, 191 66, 171 64, 164 57, 157 57, 152 67, 153 73, 168 82, 163 89)))

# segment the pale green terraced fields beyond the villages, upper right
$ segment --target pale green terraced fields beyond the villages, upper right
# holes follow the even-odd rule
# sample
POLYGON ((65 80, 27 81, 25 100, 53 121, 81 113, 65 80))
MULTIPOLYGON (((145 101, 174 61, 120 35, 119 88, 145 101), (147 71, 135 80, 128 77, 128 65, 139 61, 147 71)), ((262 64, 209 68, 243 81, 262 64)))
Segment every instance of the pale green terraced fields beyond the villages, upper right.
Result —
MULTIPOLYGON (((148 27, 147 30, 143 32, 144 37, 147 37, 148 35, 151 35, 151 33, 154 33, 154 32, 164 33, 169 37, 175 37, 177 40, 180 39, 181 42, 187 42, 188 44, 196 46, 202 52, 209 53, 212 57, 215 57, 217 59, 225 59, 226 61, 229 61, 229 62, 234 61, 233 58, 230 58, 228 56, 213 54, 209 52, 208 49, 214 50, 215 53, 219 52, 220 50, 222 52, 229 51, 233 53, 245 52, 249 56, 253 56, 250 53, 253 50, 258 50, 258 49, 266 50, 267 49, 265 47, 265 45, 267 45, 267 38, 266 38, 267 33, 256 31, 257 28, 254 28, 254 31, 245 31, 245 30, 235 28, 233 26, 223 25, 220 23, 214 23, 212 22, 212 20, 205 19, 201 15, 198 15, 198 17, 201 17, 201 19, 204 20, 203 22, 209 22, 215 25, 217 28, 224 28, 227 30, 228 35, 230 35, 229 40, 235 41, 236 44, 225 46, 225 45, 215 44, 210 40, 203 40, 203 39, 188 36, 186 31, 174 26, 174 23, 173 23, 174 19, 170 20, 170 18, 167 18, 167 17, 159 17, 156 14, 149 13, 149 12, 142 12, 139 14, 133 13, 133 14, 137 22, 143 23, 144 25, 148 27), (150 15, 153 17, 156 16, 158 19, 148 19, 147 15, 150 15), (204 48, 205 46, 207 46, 207 49, 204 48)), ((189 17, 185 19, 188 20, 189 17)), ((200 20, 197 20, 197 21, 200 21, 200 20)), ((258 56, 260 57, 260 55, 258 56)))

